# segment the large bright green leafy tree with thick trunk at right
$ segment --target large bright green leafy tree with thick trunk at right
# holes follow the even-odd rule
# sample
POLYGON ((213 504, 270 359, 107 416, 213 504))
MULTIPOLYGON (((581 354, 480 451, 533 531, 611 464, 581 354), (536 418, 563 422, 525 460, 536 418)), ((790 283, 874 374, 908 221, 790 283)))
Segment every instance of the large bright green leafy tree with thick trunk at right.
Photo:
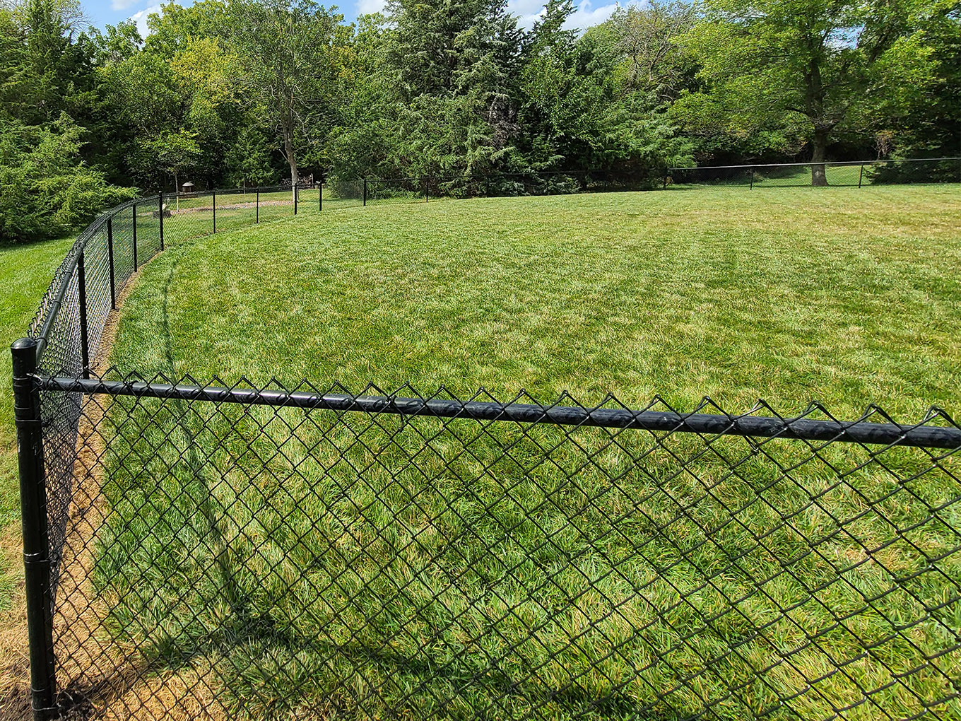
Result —
POLYGON ((879 99, 897 108, 931 82, 922 15, 948 11, 942 0, 707 0, 682 40, 705 86, 674 116, 695 133, 766 133, 781 150, 809 143, 811 159, 824 160, 833 138, 870 130, 875 113, 865 111, 879 99))

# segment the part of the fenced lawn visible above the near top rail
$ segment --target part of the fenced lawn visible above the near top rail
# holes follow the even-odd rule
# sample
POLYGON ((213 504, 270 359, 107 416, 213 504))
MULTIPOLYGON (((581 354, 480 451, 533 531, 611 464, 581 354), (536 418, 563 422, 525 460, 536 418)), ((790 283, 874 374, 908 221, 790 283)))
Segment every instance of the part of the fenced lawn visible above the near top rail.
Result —
POLYGON ((145 271, 123 369, 729 410, 956 407, 956 186, 311 213, 145 271))

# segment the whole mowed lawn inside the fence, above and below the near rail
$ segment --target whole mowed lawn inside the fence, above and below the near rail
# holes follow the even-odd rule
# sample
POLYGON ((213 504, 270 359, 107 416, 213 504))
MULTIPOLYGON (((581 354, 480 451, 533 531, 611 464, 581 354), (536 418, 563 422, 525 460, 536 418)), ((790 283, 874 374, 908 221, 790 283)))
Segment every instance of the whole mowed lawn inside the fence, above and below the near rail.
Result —
MULTIPOLYGON (((736 193, 203 238, 145 269, 112 358, 585 404, 956 409, 956 188, 736 193)), ((109 628, 149 666, 212 669, 232 713, 959 715, 956 459, 171 401, 107 418, 109 628)))

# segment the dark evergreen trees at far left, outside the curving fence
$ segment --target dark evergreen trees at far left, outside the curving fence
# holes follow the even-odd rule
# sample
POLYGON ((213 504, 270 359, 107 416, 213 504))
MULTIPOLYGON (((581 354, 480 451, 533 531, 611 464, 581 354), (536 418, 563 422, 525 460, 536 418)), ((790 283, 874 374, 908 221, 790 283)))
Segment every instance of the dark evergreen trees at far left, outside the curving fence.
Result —
POLYGON ((0 9, 0 242, 62 236, 130 195, 84 158, 99 106, 96 45, 75 37, 78 8, 0 9))

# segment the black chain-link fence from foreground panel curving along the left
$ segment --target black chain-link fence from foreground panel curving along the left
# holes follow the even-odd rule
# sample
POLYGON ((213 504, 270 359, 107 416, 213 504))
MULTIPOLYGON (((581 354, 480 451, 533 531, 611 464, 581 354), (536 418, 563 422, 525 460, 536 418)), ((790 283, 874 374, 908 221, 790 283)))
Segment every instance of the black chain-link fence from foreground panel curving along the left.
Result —
POLYGON ((943 410, 103 370, 167 245, 375 185, 139 199, 70 250, 13 346, 38 719, 961 718, 943 410))

